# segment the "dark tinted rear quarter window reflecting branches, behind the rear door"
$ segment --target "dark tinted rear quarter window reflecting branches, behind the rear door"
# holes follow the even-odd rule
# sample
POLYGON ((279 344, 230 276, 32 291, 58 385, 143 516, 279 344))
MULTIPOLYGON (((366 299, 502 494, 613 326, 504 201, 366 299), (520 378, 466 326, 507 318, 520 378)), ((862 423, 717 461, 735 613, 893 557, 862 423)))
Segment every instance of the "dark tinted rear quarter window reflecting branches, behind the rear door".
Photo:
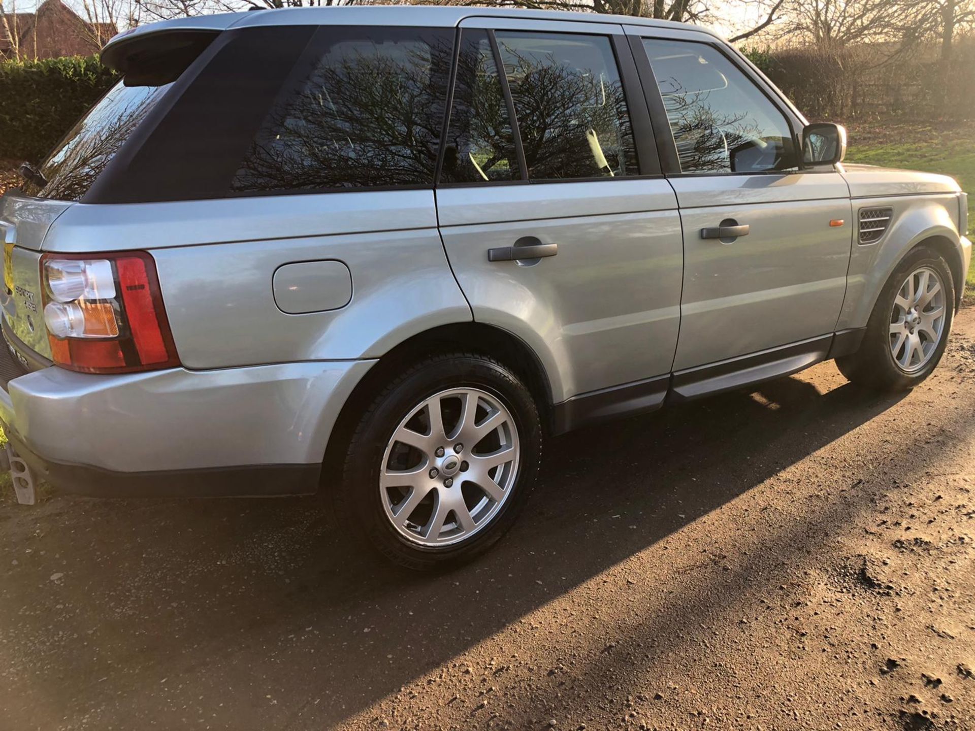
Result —
POLYGON ((299 61, 231 188, 432 185, 452 38, 439 29, 320 30, 310 62, 299 61))

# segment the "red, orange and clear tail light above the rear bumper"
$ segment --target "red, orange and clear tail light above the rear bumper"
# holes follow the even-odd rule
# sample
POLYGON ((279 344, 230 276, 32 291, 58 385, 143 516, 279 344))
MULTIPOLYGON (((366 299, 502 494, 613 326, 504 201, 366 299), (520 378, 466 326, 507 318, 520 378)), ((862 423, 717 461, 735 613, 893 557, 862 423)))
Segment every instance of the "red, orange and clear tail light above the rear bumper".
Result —
POLYGON ((45 254, 41 278, 44 323, 57 365, 85 373, 179 365, 148 253, 45 254))

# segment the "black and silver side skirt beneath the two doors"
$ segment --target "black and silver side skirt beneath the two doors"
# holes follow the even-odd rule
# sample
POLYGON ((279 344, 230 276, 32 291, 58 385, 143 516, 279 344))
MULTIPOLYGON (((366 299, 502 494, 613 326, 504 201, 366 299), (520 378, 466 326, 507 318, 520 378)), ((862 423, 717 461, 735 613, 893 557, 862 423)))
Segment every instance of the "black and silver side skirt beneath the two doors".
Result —
POLYGON ((655 411, 666 403, 690 401, 792 375, 810 365, 855 353, 865 329, 841 330, 727 361, 573 396, 562 404, 555 404, 553 432, 564 434, 582 426, 655 411))

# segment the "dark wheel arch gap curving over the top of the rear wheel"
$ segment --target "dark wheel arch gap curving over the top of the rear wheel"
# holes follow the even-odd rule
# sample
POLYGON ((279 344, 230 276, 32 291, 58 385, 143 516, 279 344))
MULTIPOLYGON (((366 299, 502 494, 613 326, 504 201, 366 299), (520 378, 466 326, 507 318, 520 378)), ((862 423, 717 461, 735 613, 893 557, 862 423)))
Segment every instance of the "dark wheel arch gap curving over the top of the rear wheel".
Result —
POLYGON ((339 410, 325 449, 323 486, 338 479, 349 437, 359 414, 390 378, 431 353, 463 351, 480 353, 515 370, 538 404, 543 423, 551 428, 553 390, 538 354, 514 333, 483 323, 455 323, 418 332, 387 351, 356 384, 339 410))

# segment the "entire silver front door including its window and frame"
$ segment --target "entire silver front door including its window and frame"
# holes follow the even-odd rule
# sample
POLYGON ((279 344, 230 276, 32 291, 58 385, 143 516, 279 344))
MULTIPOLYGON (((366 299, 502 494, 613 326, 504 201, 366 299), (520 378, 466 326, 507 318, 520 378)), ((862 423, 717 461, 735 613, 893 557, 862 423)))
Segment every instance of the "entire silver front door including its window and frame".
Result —
POLYGON ((798 117, 724 44, 628 27, 683 223, 675 370, 834 331, 853 229, 835 170, 803 170, 798 117))

